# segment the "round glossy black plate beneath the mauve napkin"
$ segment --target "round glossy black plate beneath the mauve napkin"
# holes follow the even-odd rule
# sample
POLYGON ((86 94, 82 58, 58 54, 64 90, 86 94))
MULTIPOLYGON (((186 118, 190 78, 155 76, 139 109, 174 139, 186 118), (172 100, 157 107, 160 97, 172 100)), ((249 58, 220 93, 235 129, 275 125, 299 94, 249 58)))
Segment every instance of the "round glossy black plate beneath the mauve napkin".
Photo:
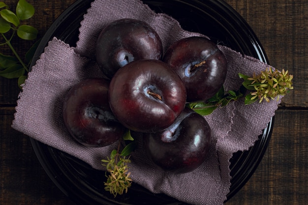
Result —
MULTIPOLYGON (((37 48, 32 62, 39 59, 54 36, 75 46, 80 22, 92 0, 77 0, 54 22, 37 48)), ((177 19, 181 26, 203 33, 214 41, 268 63, 260 42, 245 20, 223 0, 144 0, 154 11, 177 19)), ((108 5, 106 5, 108 6, 108 5)), ((253 174, 270 141, 273 118, 259 140, 248 151, 237 152, 231 159, 229 200, 253 174)), ((78 205, 184 205, 164 194, 153 194, 133 184, 127 194, 116 199, 104 191, 104 172, 85 162, 31 138, 33 149, 54 183, 78 205)))

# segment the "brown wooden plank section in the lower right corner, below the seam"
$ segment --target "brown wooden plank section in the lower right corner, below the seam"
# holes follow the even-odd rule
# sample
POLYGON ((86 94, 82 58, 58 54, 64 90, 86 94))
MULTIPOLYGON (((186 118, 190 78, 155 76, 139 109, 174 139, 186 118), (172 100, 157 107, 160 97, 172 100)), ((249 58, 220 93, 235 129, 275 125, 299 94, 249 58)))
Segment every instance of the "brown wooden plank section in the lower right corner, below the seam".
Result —
POLYGON ((308 201, 308 111, 279 110, 268 150, 226 205, 304 205, 308 201))

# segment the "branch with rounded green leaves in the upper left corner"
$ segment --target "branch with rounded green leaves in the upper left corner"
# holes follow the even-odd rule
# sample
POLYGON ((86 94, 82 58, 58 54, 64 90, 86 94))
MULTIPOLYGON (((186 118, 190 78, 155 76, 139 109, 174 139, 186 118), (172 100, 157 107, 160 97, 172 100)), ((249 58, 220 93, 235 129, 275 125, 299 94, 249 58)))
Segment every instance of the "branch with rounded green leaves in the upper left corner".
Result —
POLYGON ((26 0, 19 0, 15 13, 11 11, 4 2, 0 1, 0 46, 8 46, 13 56, 0 53, 0 76, 8 79, 18 78, 18 86, 25 82, 29 72, 29 66, 38 42, 35 42, 25 58, 22 59, 12 46, 13 37, 17 36, 23 40, 34 40, 37 38, 38 30, 32 26, 22 24, 22 21, 30 19, 34 15, 34 7, 26 0))

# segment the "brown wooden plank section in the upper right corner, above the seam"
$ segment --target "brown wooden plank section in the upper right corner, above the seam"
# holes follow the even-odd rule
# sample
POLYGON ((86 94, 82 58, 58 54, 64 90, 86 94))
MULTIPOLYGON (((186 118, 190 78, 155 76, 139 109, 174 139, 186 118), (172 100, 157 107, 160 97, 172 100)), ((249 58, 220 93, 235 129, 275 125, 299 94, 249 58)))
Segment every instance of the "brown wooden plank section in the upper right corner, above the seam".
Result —
POLYGON ((287 107, 308 107, 307 0, 225 0, 259 38, 270 64, 294 75, 294 91, 283 98, 287 107))

